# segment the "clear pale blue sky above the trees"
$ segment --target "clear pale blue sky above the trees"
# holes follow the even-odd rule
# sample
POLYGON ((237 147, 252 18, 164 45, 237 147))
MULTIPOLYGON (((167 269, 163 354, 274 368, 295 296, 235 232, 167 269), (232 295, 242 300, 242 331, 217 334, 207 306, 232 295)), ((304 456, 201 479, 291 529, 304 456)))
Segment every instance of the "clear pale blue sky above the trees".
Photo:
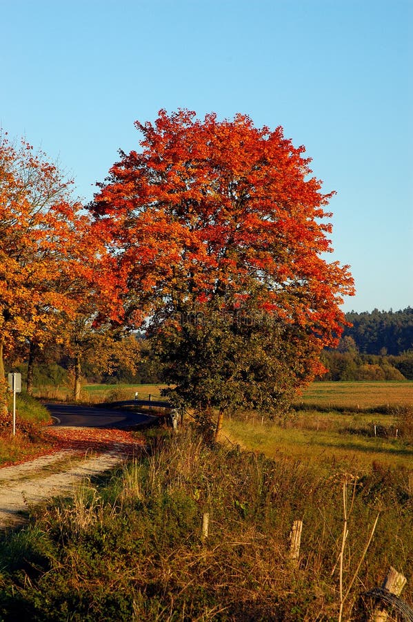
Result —
POLYGON ((90 200, 159 109, 283 126, 335 189, 344 310, 413 305, 413 0, 0 0, 0 126, 90 200))

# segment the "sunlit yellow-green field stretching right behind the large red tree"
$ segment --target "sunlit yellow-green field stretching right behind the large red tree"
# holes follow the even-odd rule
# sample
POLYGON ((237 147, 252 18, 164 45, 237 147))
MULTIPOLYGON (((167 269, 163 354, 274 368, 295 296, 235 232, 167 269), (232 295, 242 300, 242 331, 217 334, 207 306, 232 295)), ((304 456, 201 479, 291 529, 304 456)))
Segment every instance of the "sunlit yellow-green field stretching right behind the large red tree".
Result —
POLYGON ((258 415, 227 419, 223 435, 269 458, 317 462, 329 470, 413 472, 411 438, 401 433, 409 424, 403 417, 412 417, 412 381, 314 382, 300 404, 303 409, 282 423, 258 415), (403 404, 407 408, 398 408, 403 404))

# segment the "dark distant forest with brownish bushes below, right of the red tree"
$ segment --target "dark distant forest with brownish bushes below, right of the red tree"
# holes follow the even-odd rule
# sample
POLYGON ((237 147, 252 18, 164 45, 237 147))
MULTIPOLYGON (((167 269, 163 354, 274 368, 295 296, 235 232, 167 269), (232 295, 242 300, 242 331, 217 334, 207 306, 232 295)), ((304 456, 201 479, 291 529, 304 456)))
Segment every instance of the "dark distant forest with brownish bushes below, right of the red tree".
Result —
POLYGON ((352 323, 321 355, 319 380, 413 380, 413 308, 345 314, 352 323))

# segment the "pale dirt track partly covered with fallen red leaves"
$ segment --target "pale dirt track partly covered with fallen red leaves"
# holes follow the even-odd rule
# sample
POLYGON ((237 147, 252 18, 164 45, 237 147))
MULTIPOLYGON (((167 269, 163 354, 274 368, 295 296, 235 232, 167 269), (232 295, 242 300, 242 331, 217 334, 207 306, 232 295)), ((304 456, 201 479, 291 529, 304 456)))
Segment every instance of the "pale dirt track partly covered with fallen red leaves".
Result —
POLYGON ((92 428, 52 429, 50 434, 61 438, 66 449, 0 468, 0 529, 24 524, 30 506, 70 495, 83 480, 113 469, 142 446, 127 432, 116 438, 92 428))

